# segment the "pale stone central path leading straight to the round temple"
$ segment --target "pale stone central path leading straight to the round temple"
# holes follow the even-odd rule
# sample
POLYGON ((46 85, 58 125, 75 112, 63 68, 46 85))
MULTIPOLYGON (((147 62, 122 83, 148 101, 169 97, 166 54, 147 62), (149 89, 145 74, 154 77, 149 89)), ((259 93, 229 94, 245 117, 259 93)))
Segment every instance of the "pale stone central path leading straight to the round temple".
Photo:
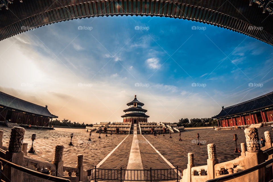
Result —
MULTIPOLYGON (((134 133, 135 133, 135 126, 134 126, 134 133)), ((130 156, 127 164, 127 170, 129 169, 143 169, 142 160, 140 155, 140 150, 138 146, 138 139, 137 135, 134 135, 133 142, 131 146, 130 156)), ((144 173, 143 171, 126 171, 125 173, 125 180, 144 180, 144 173)))

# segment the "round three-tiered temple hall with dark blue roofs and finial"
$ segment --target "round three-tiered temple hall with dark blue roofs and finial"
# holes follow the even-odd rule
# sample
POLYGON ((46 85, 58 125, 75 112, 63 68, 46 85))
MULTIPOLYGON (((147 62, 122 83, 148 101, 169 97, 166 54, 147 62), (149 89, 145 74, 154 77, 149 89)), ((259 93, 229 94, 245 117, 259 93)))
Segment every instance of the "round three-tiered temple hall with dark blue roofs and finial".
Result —
POLYGON ((125 112, 125 115, 121 116, 123 117, 123 123, 132 122, 137 124, 139 122, 147 122, 147 118, 150 116, 145 114, 147 110, 142 109, 142 106, 144 106, 144 104, 137 100, 136 95, 133 101, 127 103, 127 106, 129 106, 129 108, 123 110, 123 112, 125 112))

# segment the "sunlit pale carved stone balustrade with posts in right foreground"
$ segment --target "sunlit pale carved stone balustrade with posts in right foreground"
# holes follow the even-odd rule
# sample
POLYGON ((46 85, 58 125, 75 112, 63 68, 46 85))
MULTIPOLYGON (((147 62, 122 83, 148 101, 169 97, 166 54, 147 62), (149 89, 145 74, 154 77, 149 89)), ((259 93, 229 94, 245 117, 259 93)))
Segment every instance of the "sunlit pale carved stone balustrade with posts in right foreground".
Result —
MULTIPOLYGON (((183 170, 183 176, 180 182, 205 182, 209 179, 215 179, 249 169, 272 158, 273 147, 269 131, 264 132, 264 148, 267 150, 264 152, 260 149, 258 131, 256 128, 246 128, 245 136, 246 144, 241 143, 241 156, 234 160, 219 163, 216 156, 216 146, 214 144, 207 145, 208 159, 207 165, 205 166, 195 166, 193 153, 188 153, 187 169, 183 170)), ((269 173, 272 173, 272 165, 231 179, 229 182, 270 181, 271 179, 267 179, 267 177, 270 177, 269 173)))

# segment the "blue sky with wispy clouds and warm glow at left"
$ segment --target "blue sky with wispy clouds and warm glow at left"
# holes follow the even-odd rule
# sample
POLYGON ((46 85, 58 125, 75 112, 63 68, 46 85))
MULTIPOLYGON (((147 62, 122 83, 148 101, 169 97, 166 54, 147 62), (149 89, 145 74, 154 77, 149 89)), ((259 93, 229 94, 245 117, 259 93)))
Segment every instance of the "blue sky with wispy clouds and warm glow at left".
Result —
POLYGON ((7 76, 0 90, 72 121, 121 121, 135 94, 150 121, 175 122, 211 117, 221 106, 272 91, 272 46, 188 20, 77 19, 0 46, 7 76))

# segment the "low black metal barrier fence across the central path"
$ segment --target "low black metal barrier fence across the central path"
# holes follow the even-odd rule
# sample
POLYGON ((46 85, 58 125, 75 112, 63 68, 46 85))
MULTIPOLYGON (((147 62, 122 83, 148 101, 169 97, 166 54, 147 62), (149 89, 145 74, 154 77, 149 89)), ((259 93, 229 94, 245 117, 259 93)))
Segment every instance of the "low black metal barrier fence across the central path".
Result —
POLYGON ((180 181, 183 170, 173 169, 101 169, 93 168, 87 171, 90 180, 110 180, 110 181, 180 181))

